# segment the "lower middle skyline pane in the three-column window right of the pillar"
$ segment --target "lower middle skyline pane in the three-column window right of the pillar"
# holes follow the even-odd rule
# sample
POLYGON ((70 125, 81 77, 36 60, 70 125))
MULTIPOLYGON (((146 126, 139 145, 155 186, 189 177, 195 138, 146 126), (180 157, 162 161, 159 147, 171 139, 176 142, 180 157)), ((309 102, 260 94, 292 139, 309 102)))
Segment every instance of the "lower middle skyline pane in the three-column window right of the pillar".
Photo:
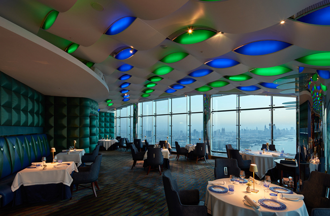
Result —
POLYGON ((240 113, 240 150, 260 150, 271 139, 271 112, 268 109, 245 110, 240 113))

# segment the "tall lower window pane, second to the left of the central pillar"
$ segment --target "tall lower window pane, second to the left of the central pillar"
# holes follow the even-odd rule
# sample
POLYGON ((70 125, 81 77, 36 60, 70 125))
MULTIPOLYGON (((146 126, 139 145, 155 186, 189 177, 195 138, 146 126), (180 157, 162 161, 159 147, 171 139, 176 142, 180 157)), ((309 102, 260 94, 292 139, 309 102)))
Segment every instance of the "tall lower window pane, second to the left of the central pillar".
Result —
POLYGON ((187 144, 187 114, 172 116, 172 146, 175 147, 175 141, 181 147, 187 144))

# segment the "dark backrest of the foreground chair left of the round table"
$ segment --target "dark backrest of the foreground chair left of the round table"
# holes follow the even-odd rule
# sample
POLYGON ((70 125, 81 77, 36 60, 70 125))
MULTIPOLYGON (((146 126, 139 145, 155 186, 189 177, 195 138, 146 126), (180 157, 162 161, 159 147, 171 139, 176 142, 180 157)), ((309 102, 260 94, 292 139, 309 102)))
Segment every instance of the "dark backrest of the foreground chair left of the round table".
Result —
POLYGON ((166 170, 162 173, 162 181, 164 185, 166 202, 169 208, 170 216, 181 216, 182 212, 182 204, 180 202, 179 197, 179 188, 177 181, 173 179, 171 171, 166 170))

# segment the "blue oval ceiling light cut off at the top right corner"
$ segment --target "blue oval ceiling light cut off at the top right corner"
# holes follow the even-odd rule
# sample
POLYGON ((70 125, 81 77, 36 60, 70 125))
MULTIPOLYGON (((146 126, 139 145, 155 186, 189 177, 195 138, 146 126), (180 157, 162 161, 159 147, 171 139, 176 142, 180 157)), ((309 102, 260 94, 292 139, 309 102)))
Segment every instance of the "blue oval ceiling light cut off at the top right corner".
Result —
POLYGON ((297 20, 314 25, 330 25, 330 7, 319 9, 297 20))

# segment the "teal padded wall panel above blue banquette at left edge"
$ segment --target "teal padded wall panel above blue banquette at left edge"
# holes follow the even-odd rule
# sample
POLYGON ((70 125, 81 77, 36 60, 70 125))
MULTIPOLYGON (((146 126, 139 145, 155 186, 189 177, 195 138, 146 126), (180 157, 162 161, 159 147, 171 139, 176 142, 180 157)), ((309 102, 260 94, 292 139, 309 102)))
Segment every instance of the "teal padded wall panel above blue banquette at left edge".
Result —
POLYGON ((0 71, 0 96, 0 136, 43 133, 43 94, 0 71))

